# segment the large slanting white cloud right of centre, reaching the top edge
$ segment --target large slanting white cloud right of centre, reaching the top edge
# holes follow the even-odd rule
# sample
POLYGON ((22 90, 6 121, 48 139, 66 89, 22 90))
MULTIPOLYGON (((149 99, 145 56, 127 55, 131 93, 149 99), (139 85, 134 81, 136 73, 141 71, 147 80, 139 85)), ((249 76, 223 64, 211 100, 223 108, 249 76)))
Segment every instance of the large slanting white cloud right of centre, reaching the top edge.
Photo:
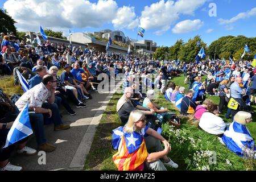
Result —
POLYGON ((145 29, 155 29, 156 35, 168 31, 172 24, 179 19, 180 14, 193 15, 195 10, 207 0, 178 0, 152 3, 145 6, 140 17, 140 25, 145 29))

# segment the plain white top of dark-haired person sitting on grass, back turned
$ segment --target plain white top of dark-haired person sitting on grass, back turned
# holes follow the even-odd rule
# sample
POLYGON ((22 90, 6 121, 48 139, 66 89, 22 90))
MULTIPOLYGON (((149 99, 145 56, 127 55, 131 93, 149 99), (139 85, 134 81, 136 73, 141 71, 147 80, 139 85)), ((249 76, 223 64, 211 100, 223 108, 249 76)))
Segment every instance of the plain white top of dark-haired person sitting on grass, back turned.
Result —
POLYGON ((225 132, 226 124, 221 117, 206 111, 200 119, 199 126, 209 134, 219 135, 225 132))

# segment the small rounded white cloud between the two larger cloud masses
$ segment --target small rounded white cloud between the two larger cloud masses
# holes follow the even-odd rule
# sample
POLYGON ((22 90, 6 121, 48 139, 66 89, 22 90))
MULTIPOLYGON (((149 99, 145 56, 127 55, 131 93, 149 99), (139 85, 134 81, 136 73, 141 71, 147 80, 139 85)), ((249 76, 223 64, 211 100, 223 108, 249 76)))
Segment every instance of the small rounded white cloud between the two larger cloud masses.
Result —
POLYGON ((112 20, 115 28, 133 29, 138 27, 139 19, 136 17, 134 7, 123 6, 119 8, 115 17, 112 20))

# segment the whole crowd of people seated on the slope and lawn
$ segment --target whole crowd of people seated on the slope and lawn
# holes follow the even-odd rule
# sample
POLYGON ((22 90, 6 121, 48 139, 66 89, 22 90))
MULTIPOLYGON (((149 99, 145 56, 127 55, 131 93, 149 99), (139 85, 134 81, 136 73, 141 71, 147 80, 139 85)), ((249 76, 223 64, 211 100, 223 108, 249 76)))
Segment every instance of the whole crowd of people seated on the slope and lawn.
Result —
MULTIPOLYGON (((113 78, 113 73, 114 77, 121 77, 123 82, 123 96, 117 103, 117 114, 125 126, 113 130, 112 141, 114 149, 118 150, 113 156, 118 170, 166 170, 165 166, 178 167, 168 158, 171 146, 160 135, 161 124, 174 113, 154 102, 158 94, 163 94, 167 102, 177 106, 181 115, 193 115, 199 129, 216 135, 230 150, 242 155, 239 150, 241 146, 235 146, 236 132, 230 126, 245 127, 246 123, 251 122, 251 105, 256 102, 253 101, 256 69, 248 61, 180 63, 99 52, 88 46, 85 49, 72 45, 65 47, 64 44, 55 45, 48 40, 39 46, 36 39, 28 44, 19 42, 14 34, 1 36, 1 74, 13 74, 15 86, 20 84, 20 74, 28 80, 29 86, 15 102, 0 90, 0 105, 3 108, 0 112, 1 146, 5 144, 15 117, 28 102, 29 118, 39 150, 54 151, 55 146, 47 142, 44 123, 52 122, 55 131, 69 129, 70 126, 61 119, 60 106, 68 114, 75 115, 69 101, 77 108, 85 108, 85 100, 93 99, 90 92, 97 91, 98 83, 102 81, 98 80, 98 76, 105 73, 107 78, 113 78), (59 71, 63 72, 58 74, 59 71), (169 82, 173 76, 180 76, 181 73, 184 73, 184 82, 188 84, 187 91, 183 86, 169 82), (207 79, 202 81, 204 75, 207 75, 207 79), (216 105, 207 100, 207 94, 220 97, 220 103, 216 105), (232 119, 230 126, 219 117, 225 107, 228 108, 226 118, 232 119), (158 127, 152 124, 155 121, 159 122, 158 127)), ((245 134, 250 137, 249 131, 245 134)), ((249 139, 246 140, 247 145, 252 146, 253 139, 249 139)), ((18 152, 36 154, 35 149, 26 146, 26 140, 17 144, 18 152)), ((13 150, 14 146, 1 148, 1 170, 21 169, 9 163, 13 150)))

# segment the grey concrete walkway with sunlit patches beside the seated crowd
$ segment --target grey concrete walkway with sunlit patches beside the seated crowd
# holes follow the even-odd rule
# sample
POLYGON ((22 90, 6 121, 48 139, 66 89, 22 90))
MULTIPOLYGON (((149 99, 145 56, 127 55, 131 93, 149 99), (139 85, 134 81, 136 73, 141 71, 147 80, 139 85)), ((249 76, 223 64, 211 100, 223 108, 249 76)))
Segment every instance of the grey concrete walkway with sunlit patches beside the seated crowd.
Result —
MULTIPOLYGON (((109 88, 114 88, 114 85, 109 84, 109 88)), ((71 129, 53 131, 53 124, 45 126, 47 142, 56 146, 55 151, 45 153, 46 164, 39 164, 43 161, 42 154, 33 156, 14 154, 10 162, 22 166, 23 170, 31 171, 81 170, 84 168, 86 155, 90 151, 97 126, 114 92, 103 94, 91 92, 93 99, 87 100, 85 108, 76 108, 71 104, 77 113, 75 116, 68 115, 66 110, 61 109, 63 122, 69 123, 71 129)), ((30 136, 27 146, 36 148, 34 135, 30 136)))

